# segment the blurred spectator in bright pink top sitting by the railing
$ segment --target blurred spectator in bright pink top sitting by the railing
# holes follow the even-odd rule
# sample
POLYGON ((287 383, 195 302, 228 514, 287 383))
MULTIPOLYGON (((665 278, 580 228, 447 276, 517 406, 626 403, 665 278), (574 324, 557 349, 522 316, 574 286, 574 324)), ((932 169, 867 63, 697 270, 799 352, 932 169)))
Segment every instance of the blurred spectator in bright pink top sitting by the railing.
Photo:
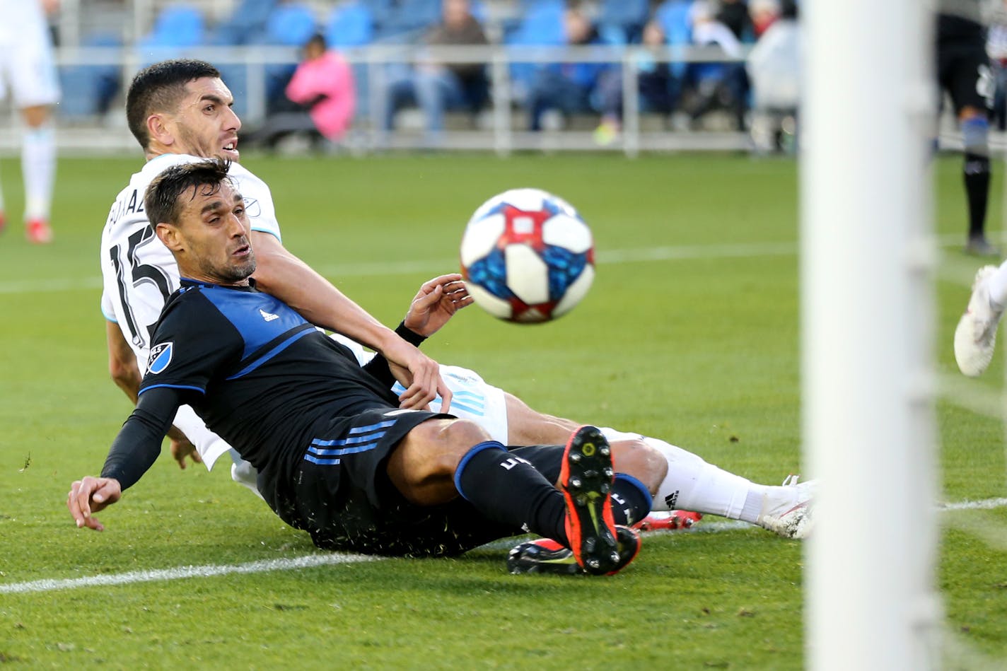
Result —
POLYGON ((269 117, 266 124, 245 139, 273 148, 292 133, 307 133, 315 146, 326 138, 343 138, 356 105, 353 75, 325 38, 313 35, 304 45, 304 57, 287 85, 287 110, 269 117))

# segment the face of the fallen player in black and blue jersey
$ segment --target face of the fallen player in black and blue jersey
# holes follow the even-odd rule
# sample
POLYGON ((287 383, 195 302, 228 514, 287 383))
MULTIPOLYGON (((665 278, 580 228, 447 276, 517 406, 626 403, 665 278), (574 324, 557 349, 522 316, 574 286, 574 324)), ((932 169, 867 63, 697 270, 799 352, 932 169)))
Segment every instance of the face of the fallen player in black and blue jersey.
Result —
POLYGON ((185 251, 182 274, 214 284, 244 283, 255 272, 255 252, 242 194, 224 182, 217 190, 199 186, 180 197, 187 200, 178 227, 185 251))

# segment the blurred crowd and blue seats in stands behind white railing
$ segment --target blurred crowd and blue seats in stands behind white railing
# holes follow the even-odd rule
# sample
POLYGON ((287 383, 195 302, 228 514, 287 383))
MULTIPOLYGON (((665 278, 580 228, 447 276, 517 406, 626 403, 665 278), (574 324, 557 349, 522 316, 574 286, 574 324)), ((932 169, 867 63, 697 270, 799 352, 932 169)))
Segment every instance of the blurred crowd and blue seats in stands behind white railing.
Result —
MULTIPOLYGON (((83 0, 87 5, 87 0, 83 0)), ((795 0, 239 0, 214 21, 197 4, 158 4, 150 31, 136 40, 140 57, 153 61, 198 46, 278 45, 302 49, 297 62, 268 64, 268 120, 256 137, 274 142, 304 130, 339 141, 366 116, 392 133, 401 110, 422 111, 426 141, 436 145, 445 114, 472 123, 491 103, 490 69, 478 62, 439 62, 427 46, 503 44, 511 54, 529 46, 639 45, 633 50, 639 109, 669 127, 695 128, 713 111, 747 130, 753 101, 745 56, 780 15, 793 17, 795 0), (356 47, 401 44, 401 62, 380 77, 354 61, 356 47), (712 59, 674 60, 676 49, 703 46, 712 59), (342 55, 340 55, 342 54, 342 55), (724 60, 717 60, 723 54, 724 60), (346 57, 344 57, 346 56, 346 57), (348 61, 347 61, 348 58, 348 61), (350 64, 355 62, 355 64, 350 64), (307 83, 310 82, 310 85, 307 83), (371 105, 378 110, 370 110, 371 105)), ((796 24, 793 24, 796 25, 796 24)), ((84 45, 122 45, 121 36, 85 35, 84 45)), ((793 44, 790 44, 793 46, 793 44)), ((679 50, 678 52, 681 52, 679 50)), ((776 48, 773 66, 789 57, 776 48)), ((790 70, 796 72, 794 52, 790 70)), ((246 98, 244 65, 223 64, 228 85, 246 98)), ((623 70, 618 62, 520 62, 512 58, 510 100, 524 110, 528 130, 562 127, 574 115, 593 116, 599 143, 616 138, 622 124, 623 70)), ((82 64, 62 71, 63 114, 101 114, 117 100, 121 70, 82 64), (71 100, 70 100, 71 99, 71 100)), ((776 92, 777 94, 779 92, 776 92)), ((772 101, 780 107, 779 96, 772 101)), ((793 105, 784 107, 796 108, 793 105)), ((242 110, 239 110, 242 112, 242 110)), ((519 115, 517 118, 522 118, 519 115)))

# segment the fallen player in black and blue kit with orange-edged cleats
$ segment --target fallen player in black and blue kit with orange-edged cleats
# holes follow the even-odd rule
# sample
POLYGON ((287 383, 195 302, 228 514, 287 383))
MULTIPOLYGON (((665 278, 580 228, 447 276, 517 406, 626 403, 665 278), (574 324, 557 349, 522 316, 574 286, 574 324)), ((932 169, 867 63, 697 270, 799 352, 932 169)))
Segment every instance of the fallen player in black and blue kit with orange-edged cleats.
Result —
POLYGON ((256 467, 270 508, 318 547, 455 555, 532 531, 566 545, 588 573, 632 560, 639 537, 616 525, 609 495, 621 489, 637 516, 650 496, 631 474, 615 477, 598 429, 580 428, 565 448, 509 450, 474 422, 398 407, 384 358, 363 369, 250 281, 251 227, 229 167, 180 163, 144 195, 181 287, 151 329, 137 407, 102 476, 71 486, 79 527, 102 528, 92 513, 150 467, 187 403, 256 467))

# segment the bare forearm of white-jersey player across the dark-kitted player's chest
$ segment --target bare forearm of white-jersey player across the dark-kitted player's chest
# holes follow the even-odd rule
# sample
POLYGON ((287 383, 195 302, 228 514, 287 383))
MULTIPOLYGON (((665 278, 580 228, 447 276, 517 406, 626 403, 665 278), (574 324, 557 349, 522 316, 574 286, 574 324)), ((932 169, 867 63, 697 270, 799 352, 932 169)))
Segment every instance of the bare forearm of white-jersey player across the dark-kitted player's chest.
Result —
POLYGON ((311 323, 342 333, 377 352, 398 340, 332 283, 284 249, 269 234, 253 240, 256 285, 300 312, 311 323))

